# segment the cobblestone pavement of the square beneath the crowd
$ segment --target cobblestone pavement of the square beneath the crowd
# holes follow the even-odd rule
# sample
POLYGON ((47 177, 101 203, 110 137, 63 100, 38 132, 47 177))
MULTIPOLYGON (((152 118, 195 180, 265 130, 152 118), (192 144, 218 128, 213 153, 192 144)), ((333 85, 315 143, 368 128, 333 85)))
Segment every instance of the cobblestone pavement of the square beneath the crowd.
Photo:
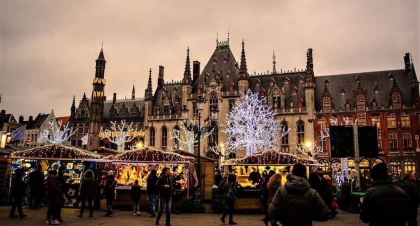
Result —
MULTIPOLYGON (((0 206, 0 225, 46 225, 46 209, 28 209, 23 207, 23 212, 27 214, 25 219, 8 218, 10 206, 0 206)), ((17 213, 17 212, 16 212, 17 213)), ((78 209, 74 208, 63 208, 61 215, 64 222, 61 225, 154 225, 155 218, 149 218, 146 212, 141 212, 139 216, 133 216, 131 211, 115 211, 115 214, 111 217, 104 216, 104 212, 95 210, 93 218, 87 217, 88 210, 84 212, 83 218, 77 217, 78 209)), ((260 225, 264 224, 260 220, 262 214, 235 214, 233 220, 238 225, 260 225)), ((202 213, 202 214, 191 214, 191 213, 174 213, 171 214, 171 224, 174 226, 188 226, 188 225, 227 225, 220 222, 220 214, 215 213, 202 213)), ((420 219, 420 218, 419 218, 420 219)), ((226 217, 227 222, 227 217, 226 217)), ((164 225, 164 215, 160 220, 160 225, 164 225)), ((326 222, 314 222, 316 225, 367 225, 362 223, 358 214, 347 213, 340 211, 339 214, 332 220, 326 222)))

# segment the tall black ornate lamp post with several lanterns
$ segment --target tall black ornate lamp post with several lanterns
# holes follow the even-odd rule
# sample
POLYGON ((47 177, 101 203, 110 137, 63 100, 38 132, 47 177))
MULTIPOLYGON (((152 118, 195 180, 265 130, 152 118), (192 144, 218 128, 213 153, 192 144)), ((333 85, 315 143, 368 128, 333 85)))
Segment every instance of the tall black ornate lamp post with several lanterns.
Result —
MULTIPOLYGON (((194 132, 194 135, 196 134, 197 137, 197 143, 198 143, 198 151, 197 151, 197 179, 198 179, 198 190, 200 189, 200 185, 201 185, 201 172, 200 172, 200 137, 202 133, 206 133, 209 132, 213 129, 213 126, 210 125, 209 126, 201 126, 201 112, 203 110, 202 108, 202 103, 204 102, 204 99, 202 98, 202 96, 198 96, 198 99, 195 100, 193 102, 193 104, 196 104, 196 110, 198 112, 198 127, 193 126, 192 124, 187 125, 186 124, 186 120, 188 119, 188 109, 186 108, 186 105, 182 106, 181 109, 181 116, 182 116, 182 120, 183 123, 185 125, 185 128, 188 131, 192 131, 194 132)), ((213 108, 210 110, 211 112, 211 116, 210 116, 210 120, 217 120, 217 114, 218 114, 218 109, 217 107, 213 106, 213 108)))

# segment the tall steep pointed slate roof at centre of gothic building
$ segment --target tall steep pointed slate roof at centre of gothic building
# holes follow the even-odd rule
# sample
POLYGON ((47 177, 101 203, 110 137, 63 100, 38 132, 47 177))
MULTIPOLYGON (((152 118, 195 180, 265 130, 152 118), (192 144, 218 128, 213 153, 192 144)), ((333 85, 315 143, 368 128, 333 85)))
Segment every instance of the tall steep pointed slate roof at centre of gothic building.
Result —
POLYGON ((236 81, 236 75, 238 74, 239 69, 236 68, 235 63, 236 63, 235 57, 233 56, 228 43, 226 44, 226 42, 218 42, 216 45, 216 49, 214 50, 208 62, 205 64, 198 79, 193 84, 192 93, 197 92, 198 84, 201 84, 201 86, 204 87, 204 77, 206 73, 208 73, 207 83, 210 82, 211 78, 213 77, 213 70, 214 70, 214 75, 216 74, 217 71, 219 71, 220 77, 223 77, 223 91, 229 90, 230 81, 232 81, 234 84, 234 90, 237 90, 238 85, 236 81), (227 61, 224 63, 223 59, 225 56, 227 58, 227 61), (213 66, 214 58, 216 58, 216 63, 213 66), (227 70, 230 71, 229 77, 226 77, 227 70))

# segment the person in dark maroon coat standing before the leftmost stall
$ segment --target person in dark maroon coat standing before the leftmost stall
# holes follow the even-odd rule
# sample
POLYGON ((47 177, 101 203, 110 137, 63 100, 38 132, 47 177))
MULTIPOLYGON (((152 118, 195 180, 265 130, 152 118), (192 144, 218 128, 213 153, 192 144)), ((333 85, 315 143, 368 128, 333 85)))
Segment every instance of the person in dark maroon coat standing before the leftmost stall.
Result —
POLYGON ((61 211, 61 185, 57 180, 57 171, 49 170, 46 178, 45 200, 48 203, 46 210, 46 223, 60 224, 58 218, 61 211))

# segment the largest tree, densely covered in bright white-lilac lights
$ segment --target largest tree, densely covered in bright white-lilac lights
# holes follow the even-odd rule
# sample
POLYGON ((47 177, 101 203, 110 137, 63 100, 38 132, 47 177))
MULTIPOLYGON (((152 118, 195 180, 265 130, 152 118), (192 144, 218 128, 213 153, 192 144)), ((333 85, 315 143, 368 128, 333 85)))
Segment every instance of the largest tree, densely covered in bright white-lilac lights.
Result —
POLYGON ((274 144, 290 131, 274 116, 265 97, 259 97, 251 91, 241 93, 232 110, 226 114, 226 123, 222 125, 222 131, 227 134, 226 154, 246 149, 246 156, 249 156, 274 148, 274 144))

